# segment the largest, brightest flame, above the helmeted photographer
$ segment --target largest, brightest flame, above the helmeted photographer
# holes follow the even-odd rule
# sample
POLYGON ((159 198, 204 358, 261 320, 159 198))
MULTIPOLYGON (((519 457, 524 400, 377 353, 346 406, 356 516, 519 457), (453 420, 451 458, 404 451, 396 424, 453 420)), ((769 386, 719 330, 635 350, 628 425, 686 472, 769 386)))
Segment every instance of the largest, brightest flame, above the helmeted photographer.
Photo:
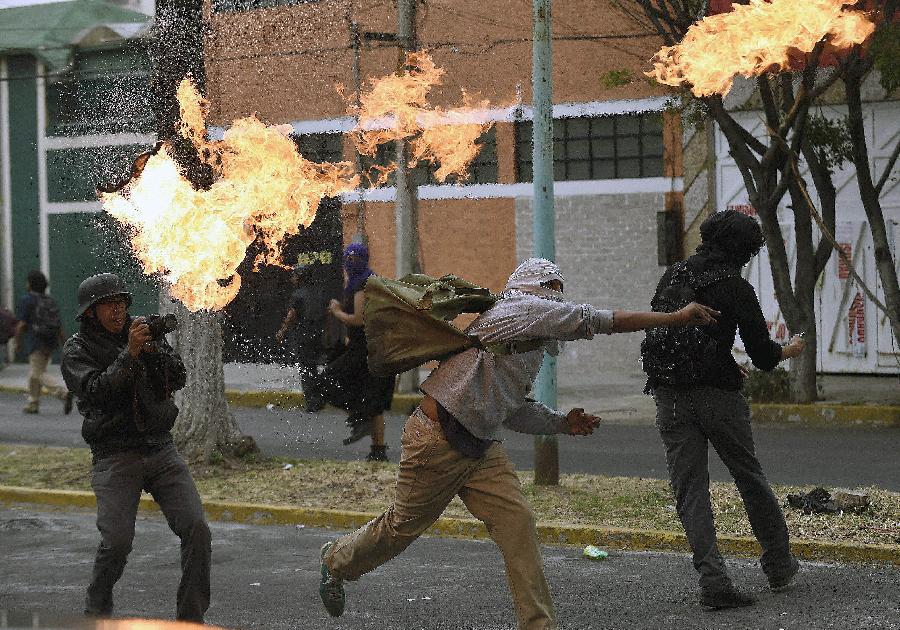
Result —
POLYGON ((353 190, 347 162, 317 164, 287 137, 290 126, 255 117, 234 122, 219 142, 206 140, 208 105, 185 79, 178 89, 180 133, 214 165, 209 190, 195 190, 163 145, 117 192, 101 192, 103 208, 128 226, 144 272, 160 274, 173 297, 192 310, 224 308, 237 295, 247 248, 263 247, 256 266, 281 264, 281 244, 315 218, 319 201, 353 190))

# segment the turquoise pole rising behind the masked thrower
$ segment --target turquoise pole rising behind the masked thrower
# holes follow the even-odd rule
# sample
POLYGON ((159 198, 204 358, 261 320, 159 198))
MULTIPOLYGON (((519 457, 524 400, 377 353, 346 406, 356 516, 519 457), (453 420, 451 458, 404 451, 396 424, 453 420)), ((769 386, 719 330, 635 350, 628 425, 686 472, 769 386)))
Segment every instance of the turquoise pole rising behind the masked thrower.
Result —
MULTIPOLYGON (((533 0, 531 93, 534 109, 534 255, 556 258, 556 217, 553 209, 553 56, 550 39, 552 0, 533 0)), ((534 396, 556 408, 556 357, 544 355, 534 384, 534 396)), ((534 482, 559 485, 559 444, 555 435, 534 438, 534 482)))

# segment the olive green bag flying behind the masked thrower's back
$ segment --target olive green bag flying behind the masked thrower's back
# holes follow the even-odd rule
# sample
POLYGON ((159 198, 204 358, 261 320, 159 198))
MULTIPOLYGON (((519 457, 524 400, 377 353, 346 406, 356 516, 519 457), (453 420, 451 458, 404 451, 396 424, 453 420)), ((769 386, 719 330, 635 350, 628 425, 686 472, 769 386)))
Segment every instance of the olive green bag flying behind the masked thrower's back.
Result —
POLYGON ((484 345, 451 324, 459 314, 483 313, 499 299, 456 276, 410 274, 400 280, 371 276, 365 292, 369 372, 375 376, 400 374, 469 348, 518 354, 543 345, 541 340, 484 345))

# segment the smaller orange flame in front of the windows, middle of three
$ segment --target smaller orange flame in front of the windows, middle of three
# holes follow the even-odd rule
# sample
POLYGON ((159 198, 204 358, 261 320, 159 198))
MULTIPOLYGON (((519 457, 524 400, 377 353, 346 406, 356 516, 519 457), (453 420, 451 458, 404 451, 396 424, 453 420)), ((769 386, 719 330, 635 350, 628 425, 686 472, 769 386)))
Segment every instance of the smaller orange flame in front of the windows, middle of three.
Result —
MULTIPOLYGON (((440 85, 444 70, 425 51, 409 53, 406 65, 402 73, 373 79, 371 89, 360 96, 357 150, 374 157, 379 145, 406 139, 411 144, 410 166, 420 160, 440 163, 435 177, 441 182, 450 175, 464 175, 480 150, 476 140, 493 124, 479 120, 478 110, 490 103, 473 103, 464 91, 463 107, 431 107, 428 95, 440 85)), ((373 168, 380 185, 396 165, 373 168)))

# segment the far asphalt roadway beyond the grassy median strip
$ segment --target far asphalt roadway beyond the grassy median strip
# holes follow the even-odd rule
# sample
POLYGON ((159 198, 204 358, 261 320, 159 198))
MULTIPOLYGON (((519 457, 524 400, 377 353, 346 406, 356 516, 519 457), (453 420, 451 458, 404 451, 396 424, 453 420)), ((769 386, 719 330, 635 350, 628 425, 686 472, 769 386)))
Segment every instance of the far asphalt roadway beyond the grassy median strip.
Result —
MULTIPOLYGON (((61 403, 44 401, 41 414, 22 413, 21 394, 0 393, 0 442, 84 446, 77 411, 61 413, 61 403)), ((309 414, 299 410, 232 407, 241 429, 252 435, 263 452, 295 458, 361 459, 368 439, 351 446, 341 440, 347 433, 343 413, 326 410, 309 414)), ((405 417, 387 418, 388 455, 399 456, 405 417)), ((758 425, 754 427, 757 453, 773 483, 814 484, 826 487, 878 486, 900 490, 900 429, 814 428, 758 425)), ((519 469, 531 469, 533 438, 506 431, 504 445, 519 469)), ((560 470, 629 477, 666 478, 665 455, 656 429, 650 425, 604 424, 590 437, 559 437, 560 470)), ((713 451, 710 476, 731 477, 713 451)), ((900 624, 898 624, 900 625, 900 624)))

